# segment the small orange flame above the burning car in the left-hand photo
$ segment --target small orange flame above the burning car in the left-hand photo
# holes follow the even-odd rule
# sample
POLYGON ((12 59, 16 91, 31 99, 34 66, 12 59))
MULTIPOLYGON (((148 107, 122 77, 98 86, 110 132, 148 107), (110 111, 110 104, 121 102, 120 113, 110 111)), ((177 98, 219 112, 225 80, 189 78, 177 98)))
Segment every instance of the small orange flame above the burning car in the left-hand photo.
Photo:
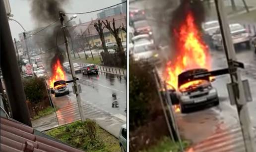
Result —
POLYGON ((52 76, 49 79, 49 85, 54 88, 54 82, 58 80, 66 80, 65 72, 63 70, 60 59, 58 58, 56 63, 52 67, 52 76))

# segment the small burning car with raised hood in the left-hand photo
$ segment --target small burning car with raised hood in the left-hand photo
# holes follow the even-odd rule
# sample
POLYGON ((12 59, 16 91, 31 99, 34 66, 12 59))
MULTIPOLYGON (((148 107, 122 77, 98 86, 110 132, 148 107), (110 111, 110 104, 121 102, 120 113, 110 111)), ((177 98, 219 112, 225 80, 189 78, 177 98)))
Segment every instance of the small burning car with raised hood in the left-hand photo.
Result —
POLYGON ((69 94, 69 90, 64 80, 59 80, 54 82, 54 94, 55 94, 55 97, 69 94))

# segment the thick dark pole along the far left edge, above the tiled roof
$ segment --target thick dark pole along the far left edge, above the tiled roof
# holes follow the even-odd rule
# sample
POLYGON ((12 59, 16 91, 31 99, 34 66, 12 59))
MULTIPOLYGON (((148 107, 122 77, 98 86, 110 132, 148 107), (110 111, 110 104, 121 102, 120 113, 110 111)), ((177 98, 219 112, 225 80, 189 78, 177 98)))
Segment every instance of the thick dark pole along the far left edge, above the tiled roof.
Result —
POLYGON ((0 66, 12 118, 32 126, 3 0, 0 0, 0 66))

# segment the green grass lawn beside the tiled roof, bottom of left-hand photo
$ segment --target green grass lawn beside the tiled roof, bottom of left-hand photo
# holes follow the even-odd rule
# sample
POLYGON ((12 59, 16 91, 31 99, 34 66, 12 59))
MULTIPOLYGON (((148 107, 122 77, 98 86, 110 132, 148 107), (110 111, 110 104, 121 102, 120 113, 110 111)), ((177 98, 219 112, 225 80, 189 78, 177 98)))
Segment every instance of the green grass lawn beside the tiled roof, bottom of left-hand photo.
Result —
POLYGON ((119 141, 94 121, 76 121, 46 134, 85 152, 120 152, 119 141), (94 125, 92 125, 94 124, 94 125))

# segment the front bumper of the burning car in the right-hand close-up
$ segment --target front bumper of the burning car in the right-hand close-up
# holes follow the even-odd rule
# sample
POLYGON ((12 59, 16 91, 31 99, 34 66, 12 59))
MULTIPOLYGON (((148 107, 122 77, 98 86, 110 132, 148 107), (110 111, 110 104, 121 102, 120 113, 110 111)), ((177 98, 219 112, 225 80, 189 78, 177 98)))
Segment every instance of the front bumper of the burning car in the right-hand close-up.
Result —
POLYGON ((191 100, 191 101, 187 101, 187 102, 181 102, 181 104, 185 108, 193 108, 193 107, 198 107, 198 106, 215 103, 217 101, 219 101, 219 97, 216 95, 216 96, 212 96, 212 97, 206 97, 206 101, 195 102, 195 100, 191 100))

